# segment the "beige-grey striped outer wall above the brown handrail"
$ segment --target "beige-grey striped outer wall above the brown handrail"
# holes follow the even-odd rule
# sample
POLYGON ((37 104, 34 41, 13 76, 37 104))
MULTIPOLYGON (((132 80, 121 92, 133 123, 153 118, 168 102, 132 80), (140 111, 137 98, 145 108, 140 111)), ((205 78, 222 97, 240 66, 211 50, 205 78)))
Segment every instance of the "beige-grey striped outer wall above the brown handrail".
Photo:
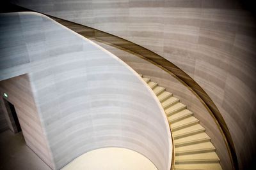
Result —
POLYGON ((13 3, 128 39, 179 66, 220 110, 240 168, 250 164, 256 151, 255 18, 239 1, 13 3))

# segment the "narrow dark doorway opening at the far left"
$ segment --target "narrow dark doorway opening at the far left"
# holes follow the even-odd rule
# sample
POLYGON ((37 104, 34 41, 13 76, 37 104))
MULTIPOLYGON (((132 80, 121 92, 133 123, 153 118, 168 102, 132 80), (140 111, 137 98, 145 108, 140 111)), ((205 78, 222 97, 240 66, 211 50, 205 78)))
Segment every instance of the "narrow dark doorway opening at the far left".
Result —
POLYGON ((4 99, 4 104, 5 104, 6 110, 8 112, 10 121, 12 122, 13 131, 15 133, 20 132, 21 127, 20 127, 19 119, 17 117, 17 113, 15 111, 15 107, 13 106, 12 103, 7 101, 6 99, 4 99))

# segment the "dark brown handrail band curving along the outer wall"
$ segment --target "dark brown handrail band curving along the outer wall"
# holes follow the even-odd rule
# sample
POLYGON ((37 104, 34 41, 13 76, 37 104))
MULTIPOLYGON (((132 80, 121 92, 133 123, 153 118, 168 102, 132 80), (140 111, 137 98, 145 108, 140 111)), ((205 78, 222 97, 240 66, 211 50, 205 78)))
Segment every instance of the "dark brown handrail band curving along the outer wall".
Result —
MULTIPOLYGON (((228 131, 227 124, 225 124, 225 121, 223 120, 223 117, 221 116, 220 111, 216 107, 216 105, 211 100, 211 97, 209 97, 206 92, 196 83, 193 78, 191 78, 188 74, 186 74, 184 71, 182 71, 179 67, 175 66, 172 62, 164 59, 160 55, 157 55, 157 53, 154 53, 140 45, 136 45, 135 43, 132 43, 131 41, 127 41, 125 39, 119 38, 117 36, 114 36, 112 34, 108 34, 103 31, 99 31, 97 29, 93 29, 91 27, 86 27, 84 25, 76 24, 73 22, 69 22, 67 20, 62 20, 60 18, 52 17, 57 22, 60 22, 60 24, 65 25, 69 29, 72 29, 73 31, 76 31, 77 33, 81 34, 82 36, 92 39, 92 41, 95 41, 96 43, 99 43, 99 45, 108 45, 113 46, 115 48, 118 48, 120 50, 123 50, 128 53, 132 53, 134 56, 140 57, 141 59, 147 60, 151 64, 154 64, 155 66, 159 67, 160 69, 163 69, 168 74, 171 74, 174 78, 176 78, 178 81, 180 81, 181 85, 184 85, 187 87, 191 92, 196 96, 197 99, 203 104, 203 106, 206 108, 207 112, 214 118, 214 123, 217 125, 218 129, 220 130, 221 134, 223 135, 223 141, 226 143, 228 148, 228 153, 230 154, 230 160, 233 162, 233 168, 237 168, 237 158, 236 158, 236 151, 234 148, 234 143, 232 141, 232 138, 230 136, 230 132, 228 131)), ((108 49, 110 52, 115 53, 116 49, 108 48, 107 46, 104 46, 104 48, 108 49)), ((116 53, 116 56, 122 58, 122 54, 119 56, 116 53)), ((130 57, 130 56, 129 56, 130 57)), ((125 58, 125 57, 123 57, 125 58)), ((131 58, 129 61, 129 58, 124 59, 125 62, 131 62, 131 58)), ((140 66, 138 66, 140 67, 140 66)), ((156 69, 156 68, 154 68, 156 69)), ((140 73, 140 72, 139 72, 140 73)), ((180 87, 179 87, 180 88, 180 87)), ((171 88, 172 89, 172 88, 171 88)), ((188 96, 190 97, 190 96, 188 96)), ((202 115, 201 115, 202 116, 202 115)), ((207 120, 210 121, 210 120, 207 120)), ((216 134, 215 132, 212 132, 212 134, 216 134)))

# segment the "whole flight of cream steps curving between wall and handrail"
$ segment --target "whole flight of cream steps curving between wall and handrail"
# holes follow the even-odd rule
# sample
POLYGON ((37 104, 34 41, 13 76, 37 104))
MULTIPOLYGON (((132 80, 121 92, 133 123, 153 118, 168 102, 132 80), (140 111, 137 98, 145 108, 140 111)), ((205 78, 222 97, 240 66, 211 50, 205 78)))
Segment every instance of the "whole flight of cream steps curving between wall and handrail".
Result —
POLYGON ((211 138, 186 105, 150 78, 143 80, 156 94, 168 118, 174 144, 174 169, 222 169, 211 138))

